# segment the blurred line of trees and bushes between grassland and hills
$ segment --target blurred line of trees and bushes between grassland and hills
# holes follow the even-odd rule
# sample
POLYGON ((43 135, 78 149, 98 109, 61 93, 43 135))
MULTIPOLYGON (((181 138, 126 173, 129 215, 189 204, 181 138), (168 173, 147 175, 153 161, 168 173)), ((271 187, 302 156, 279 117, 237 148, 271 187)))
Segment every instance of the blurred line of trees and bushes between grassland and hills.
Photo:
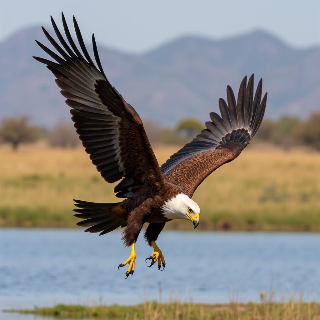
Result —
MULTIPOLYGON (((209 119, 208 119, 209 120, 209 119)), ((75 148, 80 140, 73 125, 57 123, 52 129, 31 126, 29 117, 3 118, 0 123, 0 141, 12 144, 17 149, 20 143, 31 143, 39 138, 46 140, 50 147, 75 148)), ((320 112, 313 112, 308 119, 283 116, 278 120, 264 119, 253 143, 264 142, 289 150, 304 146, 320 150, 320 112)), ((144 121, 144 127, 151 143, 155 145, 184 145, 205 128, 204 123, 194 118, 180 120, 174 128, 161 127, 157 122, 144 121)))

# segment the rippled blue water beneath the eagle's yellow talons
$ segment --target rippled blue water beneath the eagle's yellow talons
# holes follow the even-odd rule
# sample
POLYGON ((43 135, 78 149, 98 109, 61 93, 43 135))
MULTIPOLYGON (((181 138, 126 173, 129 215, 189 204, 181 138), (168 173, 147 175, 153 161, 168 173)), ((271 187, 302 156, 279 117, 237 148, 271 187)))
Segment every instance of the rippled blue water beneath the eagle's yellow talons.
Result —
MULTIPOLYGON (((147 268, 142 237, 136 267, 125 279, 117 266, 129 255, 116 231, 0 229, 0 309, 56 303, 141 303, 170 295, 194 302, 259 301, 260 291, 320 301, 320 235, 314 233, 162 232, 166 267, 147 268), (145 291, 143 283, 146 282, 145 291)), ((12 316, 7 315, 8 319, 12 316)))

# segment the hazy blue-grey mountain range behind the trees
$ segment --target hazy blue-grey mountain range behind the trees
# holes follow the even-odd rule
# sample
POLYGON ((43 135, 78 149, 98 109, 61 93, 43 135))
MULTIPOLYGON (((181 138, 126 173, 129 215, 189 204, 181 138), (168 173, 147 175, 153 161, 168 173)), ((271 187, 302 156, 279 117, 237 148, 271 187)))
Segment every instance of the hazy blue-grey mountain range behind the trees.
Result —
MULTIPOLYGON (((53 75, 32 58, 46 57, 35 39, 51 47, 40 26, 0 43, 0 117, 29 114, 51 126, 70 115, 53 75)), ((320 47, 295 49, 264 31, 219 41, 185 36, 141 55, 98 47, 110 82, 143 119, 165 125, 187 116, 206 121, 227 84, 237 91, 252 73, 255 84, 263 77, 268 91, 267 117, 303 118, 320 109, 320 47)))

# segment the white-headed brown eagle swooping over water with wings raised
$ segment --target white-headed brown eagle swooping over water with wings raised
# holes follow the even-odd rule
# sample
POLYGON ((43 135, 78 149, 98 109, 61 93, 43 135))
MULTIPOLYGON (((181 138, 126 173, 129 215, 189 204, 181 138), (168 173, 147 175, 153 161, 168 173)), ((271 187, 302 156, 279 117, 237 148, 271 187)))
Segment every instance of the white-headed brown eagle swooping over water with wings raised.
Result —
POLYGON ((140 116, 108 81, 94 35, 95 63, 84 45, 75 17, 73 23, 80 49, 63 13, 66 40, 52 17, 51 22, 60 44, 42 29, 59 54, 36 41, 55 61, 34 58, 55 76, 92 164, 108 183, 118 181, 114 192, 123 199, 117 203, 74 200, 75 216, 83 219, 77 225, 89 227, 85 231, 100 232, 100 235, 124 228, 122 240, 126 247, 131 246, 131 253, 118 269, 128 265, 125 272, 128 278, 134 272, 135 243, 143 225, 148 223, 144 238, 153 252, 146 261, 151 260, 149 267, 157 262, 158 270, 161 265, 163 270, 164 255, 156 244, 160 232, 173 219, 189 220, 194 228, 199 225, 200 208, 191 197, 210 173, 239 156, 257 132, 267 102, 267 93, 261 100, 262 79, 254 94, 253 75, 248 82, 244 77, 237 100, 227 86, 227 102, 219 99, 221 116, 211 112, 206 129, 160 166, 140 116))

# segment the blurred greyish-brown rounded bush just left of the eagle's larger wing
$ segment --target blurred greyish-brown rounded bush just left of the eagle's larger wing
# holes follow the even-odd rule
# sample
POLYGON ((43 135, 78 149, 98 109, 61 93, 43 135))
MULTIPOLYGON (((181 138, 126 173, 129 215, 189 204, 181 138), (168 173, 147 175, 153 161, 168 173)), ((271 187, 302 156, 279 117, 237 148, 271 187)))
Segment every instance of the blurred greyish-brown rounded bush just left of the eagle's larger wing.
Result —
POLYGON ((70 124, 56 124, 49 134, 50 147, 76 148, 79 144, 76 129, 70 124))

